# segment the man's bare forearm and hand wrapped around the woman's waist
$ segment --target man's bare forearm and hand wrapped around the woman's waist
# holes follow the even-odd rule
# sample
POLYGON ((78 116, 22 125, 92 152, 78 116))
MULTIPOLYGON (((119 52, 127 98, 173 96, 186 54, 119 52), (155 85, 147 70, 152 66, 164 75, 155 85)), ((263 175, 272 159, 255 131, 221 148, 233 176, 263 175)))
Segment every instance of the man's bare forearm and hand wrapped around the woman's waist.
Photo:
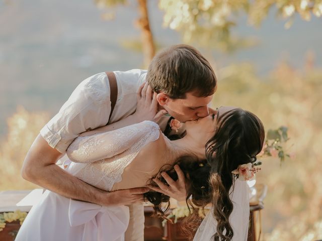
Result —
POLYGON ((24 179, 56 192, 62 196, 103 206, 140 202, 147 188, 132 188, 106 192, 70 175, 55 163, 61 153, 51 148, 40 136, 36 138, 25 158, 22 176, 24 179))

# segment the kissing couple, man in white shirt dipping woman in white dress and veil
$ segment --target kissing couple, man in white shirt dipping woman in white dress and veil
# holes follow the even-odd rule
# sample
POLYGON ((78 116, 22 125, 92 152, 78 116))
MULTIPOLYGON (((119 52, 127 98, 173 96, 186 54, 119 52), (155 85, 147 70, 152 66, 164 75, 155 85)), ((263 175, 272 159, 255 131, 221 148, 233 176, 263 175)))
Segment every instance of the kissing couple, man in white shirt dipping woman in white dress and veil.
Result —
POLYGON ((200 225, 190 223, 191 239, 247 240, 245 180, 264 127, 247 110, 208 107, 216 87, 189 45, 160 51, 147 71, 82 81, 25 158, 22 176, 47 190, 16 241, 143 241, 143 201, 164 216, 170 197, 210 206, 200 225))

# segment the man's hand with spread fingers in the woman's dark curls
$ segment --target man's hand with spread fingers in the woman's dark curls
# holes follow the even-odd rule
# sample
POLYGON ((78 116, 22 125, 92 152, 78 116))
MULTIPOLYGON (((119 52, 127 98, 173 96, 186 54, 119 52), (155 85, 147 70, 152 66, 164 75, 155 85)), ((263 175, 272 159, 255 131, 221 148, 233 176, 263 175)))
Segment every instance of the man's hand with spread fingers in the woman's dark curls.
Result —
POLYGON ((178 201, 186 200, 186 183, 185 175, 178 165, 175 165, 175 171, 178 175, 178 180, 174 181, 166 172, 161 173, 168 185, 161 182, 159 179, 154 178, 153 181, 158 185, 158 187, 148 186, 150 189, 164 193, 178 201))

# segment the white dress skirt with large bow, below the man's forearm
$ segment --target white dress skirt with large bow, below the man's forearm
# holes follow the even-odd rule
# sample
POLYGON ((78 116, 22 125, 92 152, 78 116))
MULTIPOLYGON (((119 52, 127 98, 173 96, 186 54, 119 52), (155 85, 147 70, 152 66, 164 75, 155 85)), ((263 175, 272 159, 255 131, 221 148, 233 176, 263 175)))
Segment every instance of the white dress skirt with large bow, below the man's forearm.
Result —
POLYGON ((76 201, 49 190, 32 207, 16 241, 124 241, 127 206, 76 201))

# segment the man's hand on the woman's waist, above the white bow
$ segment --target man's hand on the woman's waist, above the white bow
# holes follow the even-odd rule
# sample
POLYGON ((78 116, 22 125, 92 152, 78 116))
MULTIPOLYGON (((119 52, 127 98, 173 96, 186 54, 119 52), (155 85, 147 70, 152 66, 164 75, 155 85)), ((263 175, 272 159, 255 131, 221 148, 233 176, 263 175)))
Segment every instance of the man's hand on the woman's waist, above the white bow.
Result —
POLYGON ((102 192, 102 201, 99 203, 102 206, 119 206, 130 205, 133 203, 143 202, 143 193, 148 192, 147 187, 137 187, 113 192, 102 192))

